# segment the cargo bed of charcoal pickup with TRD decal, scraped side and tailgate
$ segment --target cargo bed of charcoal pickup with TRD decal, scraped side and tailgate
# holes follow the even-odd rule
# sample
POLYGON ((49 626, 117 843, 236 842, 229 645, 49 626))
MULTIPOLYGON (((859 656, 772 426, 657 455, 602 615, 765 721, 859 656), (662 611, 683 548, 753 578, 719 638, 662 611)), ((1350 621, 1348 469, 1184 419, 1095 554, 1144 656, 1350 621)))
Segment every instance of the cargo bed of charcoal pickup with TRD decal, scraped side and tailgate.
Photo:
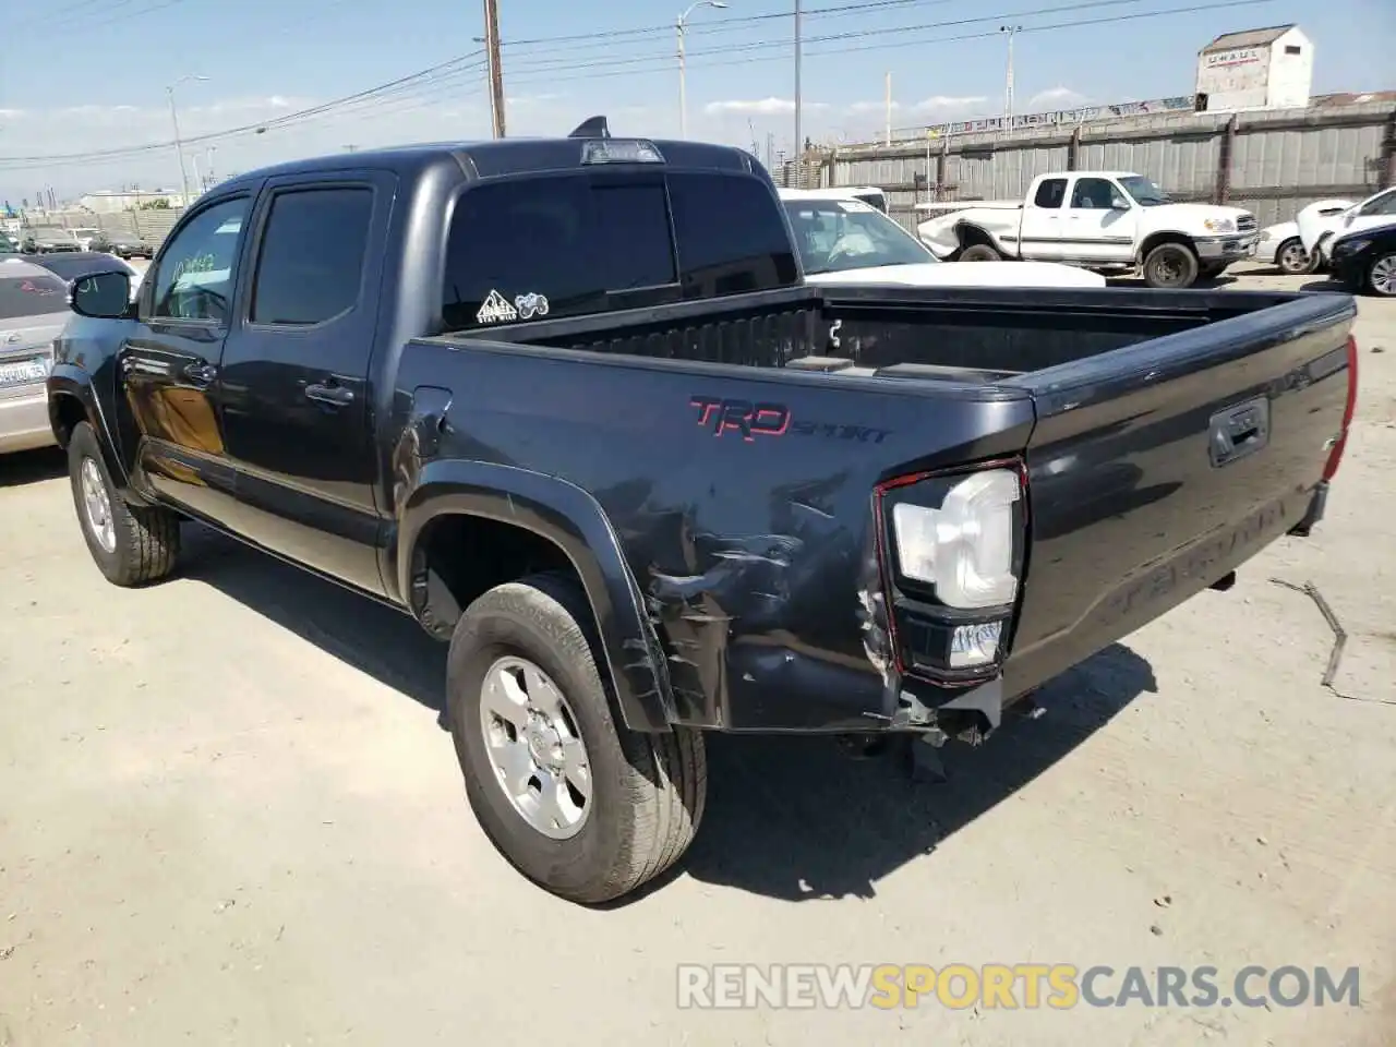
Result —
POLYGON ((1011 699, 1305 519, 1354 315, 1342 295, 797 288, 413 342, 399 388, 455 391, 440 454, 593 494, 674 645, 678 722, 857 730, 895 701, 895 651, 857 624, 871 491, 1020 463, 1011 699))

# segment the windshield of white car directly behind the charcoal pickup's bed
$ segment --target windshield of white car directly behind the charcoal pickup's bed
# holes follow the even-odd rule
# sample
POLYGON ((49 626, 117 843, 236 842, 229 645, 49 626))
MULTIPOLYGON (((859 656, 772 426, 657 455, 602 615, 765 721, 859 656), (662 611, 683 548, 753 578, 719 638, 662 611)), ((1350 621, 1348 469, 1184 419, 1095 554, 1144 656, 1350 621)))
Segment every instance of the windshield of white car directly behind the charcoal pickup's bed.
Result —
POLYGON ((785 208, 807 274, 937 261, 920 240, 859 200, 787 200, 785 208))

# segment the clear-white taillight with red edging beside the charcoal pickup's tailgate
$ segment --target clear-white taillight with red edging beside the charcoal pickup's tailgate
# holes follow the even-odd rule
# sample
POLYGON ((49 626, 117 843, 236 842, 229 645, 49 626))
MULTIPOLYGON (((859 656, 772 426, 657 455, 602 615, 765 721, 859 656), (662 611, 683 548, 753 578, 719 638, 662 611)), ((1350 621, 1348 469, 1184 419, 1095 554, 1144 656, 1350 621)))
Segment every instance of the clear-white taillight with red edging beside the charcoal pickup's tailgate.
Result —
POLYGON ((1023 572, 1022 465, 900 476, 878 484, 874 505, 898 670, 942 683, 993 674, 1023 572))

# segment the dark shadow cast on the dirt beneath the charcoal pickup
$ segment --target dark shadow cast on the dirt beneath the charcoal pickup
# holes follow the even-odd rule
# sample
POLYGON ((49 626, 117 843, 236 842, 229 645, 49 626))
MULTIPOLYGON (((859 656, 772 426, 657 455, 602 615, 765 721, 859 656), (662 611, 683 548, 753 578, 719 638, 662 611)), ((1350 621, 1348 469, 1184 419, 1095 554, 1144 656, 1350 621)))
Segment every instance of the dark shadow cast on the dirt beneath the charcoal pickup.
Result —
MULTIPOLYGON (((202 528, 186 526, 184 546, 186 578, 413 701, 444 708, 445 648, 405 614, 202 528)), ((941 750, 941 783, 913 782, 895 758, 850 759, 832 738, 709 734, 702 832, 644 893, 687 874, 785 900, 871 898, 878 879, 934 850, 1156 690, 1149 663, 1114 645, 1044 687, 1040 719, 1008 718, 981 747, 941 750)), ((451 759, 451 747, 438 758, 451 759)))

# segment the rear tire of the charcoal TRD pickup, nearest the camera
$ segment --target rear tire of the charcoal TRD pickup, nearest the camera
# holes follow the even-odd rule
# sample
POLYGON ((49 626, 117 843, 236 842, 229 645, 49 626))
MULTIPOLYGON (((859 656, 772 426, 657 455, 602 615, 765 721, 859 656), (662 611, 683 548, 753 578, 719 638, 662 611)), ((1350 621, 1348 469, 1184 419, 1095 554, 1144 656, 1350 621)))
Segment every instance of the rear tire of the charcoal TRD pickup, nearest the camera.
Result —
MULTIPOLYGON (((621 723, 597 670, 591 623, 591 607, 574 579, 532 575, 475 600, 456 623, 447 660, 447 716, 475 817, 514 868, 546 891, 584 905, 621 898, 673 866, 698 831, 708 786, 702 734, 687 727, 642 734, 621 723), (557 730, 556 737, 564 740, 557 748, 551 747, 551 734, 537 748, 522 745, 525 764, 512 766, 524 768, 517 778, 528 783, 528 796, 533 796, 533 783, 543 796, 544 782, 563 796, 557 783, 565 782, 574 805, 579 793, 571 783, 589 782, 589 796, 578 805, 582 814, 572 828, 560 819, 551 821, 551 831, 536 828, 511 799, 505 772, 497 771, 491 758, 491 751, 517 744, 510 741, 511 730, 525 737, 504 719, 491 716, 487 727, 482 715, 486 687, 498 681, 507 666, 517 667, 518 660, 556 684, 565 730, 557 730), (585 776, 563 771, 561 776, 544 778, 550 772, 540 769, 536 754, 561 754, 564 745, 578 740, 585 776)), ((498 690, 491 688, 491 694, 498 690)), ((547 694, 547 688, 530 690, 547 694)), ((528 706, 511 711, 532 711, 535 699, 528 701, 528 706)), ((490 699, 491 706, 501 704, 490 699)), ((557 764, 563 762, 558 755, 557 764)))

